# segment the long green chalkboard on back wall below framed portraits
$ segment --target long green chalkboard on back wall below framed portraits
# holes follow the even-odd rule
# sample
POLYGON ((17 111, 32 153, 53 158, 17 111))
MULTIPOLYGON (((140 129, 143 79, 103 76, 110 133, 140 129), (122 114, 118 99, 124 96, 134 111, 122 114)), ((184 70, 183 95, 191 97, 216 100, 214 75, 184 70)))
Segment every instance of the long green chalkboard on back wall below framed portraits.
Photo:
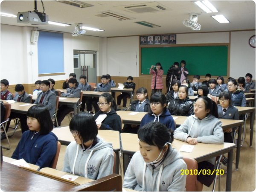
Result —
POLYGON ((212 76, 227 76, 227 45, 191 47, 141 47, 141 74, 148 75, 151 65, 160 62, 164 74, 172 64, 186 61, 189 76, 210 73, 212 76))

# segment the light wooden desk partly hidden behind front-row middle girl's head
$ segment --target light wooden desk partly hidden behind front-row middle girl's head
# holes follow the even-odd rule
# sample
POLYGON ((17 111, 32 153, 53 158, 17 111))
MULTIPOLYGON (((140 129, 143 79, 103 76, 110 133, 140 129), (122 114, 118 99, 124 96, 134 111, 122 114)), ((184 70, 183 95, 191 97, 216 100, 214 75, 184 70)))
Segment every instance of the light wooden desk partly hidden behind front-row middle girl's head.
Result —
MULTIPOLYGON (((58 137, 59 142, 62 145, 69 145, 74 140, 74 137, 70 133, 69 127, 54 128, 52 132, 58 137)), ((119 154, 120 145, 120 134, 119 131, 112 130, 98 130, 98 136, 106 142, 112 143, 113 151, 116 153, 116 173, 119 173, 119 154)))

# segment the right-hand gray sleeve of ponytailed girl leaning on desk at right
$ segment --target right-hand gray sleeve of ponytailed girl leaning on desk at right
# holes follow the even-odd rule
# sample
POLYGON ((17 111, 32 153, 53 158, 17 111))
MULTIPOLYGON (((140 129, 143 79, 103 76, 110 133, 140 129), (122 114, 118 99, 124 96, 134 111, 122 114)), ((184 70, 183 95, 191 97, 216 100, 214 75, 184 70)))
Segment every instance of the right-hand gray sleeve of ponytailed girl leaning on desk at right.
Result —
MULTIPOLYGON (((212 122, 214 123, 214 122, 212 122)), ((224 133, 221 128, 222 122, 220 120, 216 121, 213 126, 213 135, 197 137, 197 141, 200 143, 209 144, 223 144, 224 133)))

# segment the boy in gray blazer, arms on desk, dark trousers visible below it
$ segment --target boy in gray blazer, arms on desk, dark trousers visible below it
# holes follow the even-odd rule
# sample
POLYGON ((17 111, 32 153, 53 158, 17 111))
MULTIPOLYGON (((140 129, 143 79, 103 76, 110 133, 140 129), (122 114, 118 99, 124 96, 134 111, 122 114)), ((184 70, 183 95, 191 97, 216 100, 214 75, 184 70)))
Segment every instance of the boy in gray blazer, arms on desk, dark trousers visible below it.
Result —
MULTIPOLYGON (((76 97, 80 98, 80 92, 81 89, 77 87, 76 85, 78 84, 77 80, 75 78, 70 78, 68 80, 68 85, 70 88, 67 89, 67 93, 61 93, 62 97, 76 97)), ((58 113, 57 113, 57 121, 58 125, 61 125, 61 122, 63 121, 64 117, 66 116, 67 113, 73 111, 74 108, 69 105, 61 105, 58 108, 58 113)), ((57 122, 55 119, 54 126, 57 127, 57 122)))

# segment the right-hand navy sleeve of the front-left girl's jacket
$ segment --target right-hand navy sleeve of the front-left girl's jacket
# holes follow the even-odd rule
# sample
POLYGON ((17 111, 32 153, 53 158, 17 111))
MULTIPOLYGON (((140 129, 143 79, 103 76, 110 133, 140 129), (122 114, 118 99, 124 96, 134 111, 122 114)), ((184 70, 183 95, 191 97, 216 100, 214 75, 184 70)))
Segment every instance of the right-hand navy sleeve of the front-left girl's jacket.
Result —
POLYGON ((57 143, 56 140, 51 139, 44 144, 42 148, 40 157, 35 163, 40 168, 51 166, 52 160, 55 157, 57 151, 57 143))

